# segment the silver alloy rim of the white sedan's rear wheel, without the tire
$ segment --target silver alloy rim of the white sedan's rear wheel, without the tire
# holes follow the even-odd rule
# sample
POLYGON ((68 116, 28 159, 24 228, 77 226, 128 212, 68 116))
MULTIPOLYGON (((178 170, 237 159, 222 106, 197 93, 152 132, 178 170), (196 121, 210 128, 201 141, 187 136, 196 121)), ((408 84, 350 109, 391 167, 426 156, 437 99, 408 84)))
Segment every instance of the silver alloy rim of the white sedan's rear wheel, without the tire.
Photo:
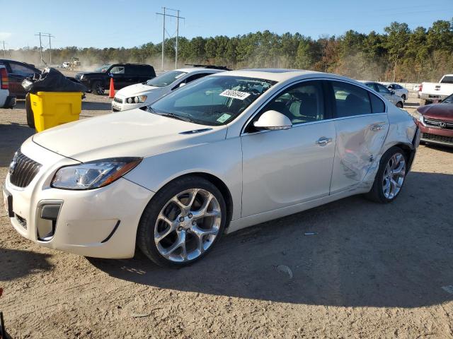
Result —
POLYGON ((401 153, 395 153, 387 162, 382 179, 382 190, 387 199, 395 198, 406 177, 406 160, 401 153))

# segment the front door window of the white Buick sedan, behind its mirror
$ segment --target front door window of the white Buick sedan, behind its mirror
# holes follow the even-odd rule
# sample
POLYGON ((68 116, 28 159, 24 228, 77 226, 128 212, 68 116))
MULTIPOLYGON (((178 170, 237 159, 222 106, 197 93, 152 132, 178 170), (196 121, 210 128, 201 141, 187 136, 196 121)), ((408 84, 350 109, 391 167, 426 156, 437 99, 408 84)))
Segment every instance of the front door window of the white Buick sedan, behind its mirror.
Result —
POLYGON ((284 90, 261 113, 270 110, 285 114, 292 124, 326 119, 321 81, 306 81, 284 90))

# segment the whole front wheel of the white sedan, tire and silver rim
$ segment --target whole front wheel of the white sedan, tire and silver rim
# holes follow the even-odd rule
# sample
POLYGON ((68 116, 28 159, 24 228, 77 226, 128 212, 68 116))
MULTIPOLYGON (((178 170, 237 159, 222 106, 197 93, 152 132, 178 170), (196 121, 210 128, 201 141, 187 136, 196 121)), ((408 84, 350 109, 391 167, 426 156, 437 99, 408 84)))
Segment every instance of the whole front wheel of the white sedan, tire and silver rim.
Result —
POLYGON ((226 225, 226 204, 202 177, 176 179, 149 202, 139 222, 139 249, 159 266, 188 266, 205 256, 226 225))

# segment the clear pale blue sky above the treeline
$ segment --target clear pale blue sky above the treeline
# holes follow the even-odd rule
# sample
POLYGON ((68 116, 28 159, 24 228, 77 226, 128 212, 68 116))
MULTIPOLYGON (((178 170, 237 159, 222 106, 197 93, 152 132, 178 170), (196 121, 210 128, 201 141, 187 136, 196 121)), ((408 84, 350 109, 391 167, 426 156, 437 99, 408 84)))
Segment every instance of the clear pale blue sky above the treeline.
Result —
MULTIPOLYGON (((162 7, 180 10, 180 36, 243 35, 258 30, 299 32, 318 38, 346 30, 384 32, 393 21, 413 29, 452 20, 453 0, 0 0, 0 41, 6 49, 39 46, 38 32, 50 33, 52 48, 133 47, 162 41, 162 7), (30 9, 30 8, 33 8, 30 9), (16 13, 16 14, 14 14, 16 13)), ((174 11, 167 11, 173 15, 174 11)), ((166 37, 176 19, 166 19, 166 37)), ((0 49, 2 48, 0 42, 0 49)), ((48 38, 43 39, 48 47, 48 38)))

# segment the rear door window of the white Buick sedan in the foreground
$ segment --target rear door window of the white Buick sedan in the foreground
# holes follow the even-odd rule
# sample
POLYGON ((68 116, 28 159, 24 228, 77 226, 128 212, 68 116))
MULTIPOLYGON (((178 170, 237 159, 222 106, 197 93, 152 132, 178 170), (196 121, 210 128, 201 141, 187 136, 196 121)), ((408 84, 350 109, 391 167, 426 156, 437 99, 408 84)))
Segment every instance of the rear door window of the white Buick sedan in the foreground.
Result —
POLYGON ((352 117, 372 112, 367 90, 351 83, 331 83, 335 93, 336 117, 352 117))

